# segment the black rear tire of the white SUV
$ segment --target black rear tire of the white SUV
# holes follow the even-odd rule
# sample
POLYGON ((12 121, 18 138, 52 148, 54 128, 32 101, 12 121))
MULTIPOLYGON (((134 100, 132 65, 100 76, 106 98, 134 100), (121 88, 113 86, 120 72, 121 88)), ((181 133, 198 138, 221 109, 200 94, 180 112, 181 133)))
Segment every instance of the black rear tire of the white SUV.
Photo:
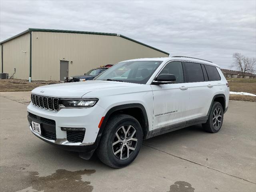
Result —
POLYGON ((210 133, 218 132, 222 126, 223 114, 224 114, 224 111, 223 111, 222 105, 219 102, 214 102, 212 104, 212 108, 211 108, 210 115, 208 117, 207 122, 202 124, 204 130, 210 133), (219 110, 220 110, 220 113, 219 113, 219 110), (220 115, 218 116, 217 119, 214 118, 216 116, 216 112, 220 115))

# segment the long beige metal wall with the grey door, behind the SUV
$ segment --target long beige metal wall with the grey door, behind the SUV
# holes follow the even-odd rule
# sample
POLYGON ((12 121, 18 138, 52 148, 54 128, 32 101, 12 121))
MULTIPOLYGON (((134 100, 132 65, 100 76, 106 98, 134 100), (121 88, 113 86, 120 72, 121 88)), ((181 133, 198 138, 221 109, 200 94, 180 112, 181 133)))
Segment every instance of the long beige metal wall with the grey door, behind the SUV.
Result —
POLYGON ((60 60, 69 61, 69 76, 74 76, 146 57, 168 55, 119 36, 32 32, 32 80, 60 80, 60 60))

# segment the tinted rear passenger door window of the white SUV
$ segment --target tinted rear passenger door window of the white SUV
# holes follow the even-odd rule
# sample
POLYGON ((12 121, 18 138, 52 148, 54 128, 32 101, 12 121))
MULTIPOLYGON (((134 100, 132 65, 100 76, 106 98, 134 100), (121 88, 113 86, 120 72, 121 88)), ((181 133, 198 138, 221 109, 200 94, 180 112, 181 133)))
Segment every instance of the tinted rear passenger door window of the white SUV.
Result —
POLYGON ((185 62, 186 75, 188 82, 200 82, 204 81, 204 74, 202 71, 201 64, 185 62))

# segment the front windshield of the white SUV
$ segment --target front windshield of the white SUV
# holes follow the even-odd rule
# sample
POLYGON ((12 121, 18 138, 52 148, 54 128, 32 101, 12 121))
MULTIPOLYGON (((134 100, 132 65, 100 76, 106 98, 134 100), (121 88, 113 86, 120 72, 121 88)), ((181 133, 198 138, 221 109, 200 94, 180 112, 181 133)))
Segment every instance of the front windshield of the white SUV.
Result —
POLYGON ((162 61, 120 62, 109 68, 94 80, 118 80, 146 84, 162 61))

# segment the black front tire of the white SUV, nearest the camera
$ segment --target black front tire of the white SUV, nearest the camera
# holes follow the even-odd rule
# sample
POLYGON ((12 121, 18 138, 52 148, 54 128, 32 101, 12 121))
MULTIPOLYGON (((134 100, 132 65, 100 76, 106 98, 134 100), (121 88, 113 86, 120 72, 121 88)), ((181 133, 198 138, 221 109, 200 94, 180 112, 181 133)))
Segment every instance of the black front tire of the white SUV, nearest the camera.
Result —
POLYGON ((136 120, 136 118, 126 114, 115 115, 108 120, 104 132, 102 133, 101 140, 97 148, 98 158, 104 164, 112 168, 122 168, 124 166, 127 166, 138 155, 140 148, 142 146, 142 139, 142 128, 138 120, 136 120), (126 142, 126 138, 123 138, 126 132, 123 132, 122 126, 124 126, 125 131, 127 131, 128 140, 129 138, 132 138, 132 141, 130 140, 126 142), (116 133, 118 134, 121 140, 123 138, 123 142, 119 142, 120 140, 116 136, 116 133), (132 135, 133 133, 134 135, 132 135), (136 139, 137 141, 135 142, 136 139), (116 142, 117 144, 114 144, 116 142), (114 146, 112 146, 113 144, 114 146), (131 150, 130 147, 132 149, 135 148, 135 150, 131 150), (118 150, 120 150, 120 152, 114 154, 114 152, 117 152, 118 150), (126 159, 120 159, 121 151, 122 158, 125 158, 126 155, 126 159))

